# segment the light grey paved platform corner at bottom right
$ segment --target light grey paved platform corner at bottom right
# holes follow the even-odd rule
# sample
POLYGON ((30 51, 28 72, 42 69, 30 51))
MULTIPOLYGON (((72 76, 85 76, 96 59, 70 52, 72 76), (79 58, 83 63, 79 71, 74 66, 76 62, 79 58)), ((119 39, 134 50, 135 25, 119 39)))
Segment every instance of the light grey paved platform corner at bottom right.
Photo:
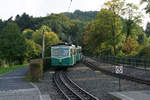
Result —
POLYGON ((150 100, 150 91, 110 92, 112 100, 150 100))

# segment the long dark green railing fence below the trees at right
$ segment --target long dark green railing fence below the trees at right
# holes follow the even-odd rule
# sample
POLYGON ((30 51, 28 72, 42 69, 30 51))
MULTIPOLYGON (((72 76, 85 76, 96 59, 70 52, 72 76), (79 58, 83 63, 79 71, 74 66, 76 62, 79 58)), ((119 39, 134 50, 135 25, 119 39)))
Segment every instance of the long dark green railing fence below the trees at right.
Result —
POLYGON ((99 62, 127 67, 150 68, 150 57, 116 57, 116 56, 90 56, 99 62))

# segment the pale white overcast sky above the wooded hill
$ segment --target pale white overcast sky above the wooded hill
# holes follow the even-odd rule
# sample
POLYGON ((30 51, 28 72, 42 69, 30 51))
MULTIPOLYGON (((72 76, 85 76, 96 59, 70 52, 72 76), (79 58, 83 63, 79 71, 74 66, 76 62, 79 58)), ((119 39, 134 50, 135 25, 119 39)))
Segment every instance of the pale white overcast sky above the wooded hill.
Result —
MULTIPOLYGON (((21 15, 26 12, 34 17, 46 16, 51 13, 73 12, 75 10, 82 11, 99 11, 104 2, 108 0, 2 0, 0 3, 0 19, 7 20, 11 16, 15 17, 17 14, 21 15)), ((129 3, 134 3, 139 6, 140 0, 126 0, 129 3)), ((143 9, 145 5, 139 6, 143 9)), ((150 21, 149 15, 144 13, 143 24, 144 27, 147 21, 150 21)))

